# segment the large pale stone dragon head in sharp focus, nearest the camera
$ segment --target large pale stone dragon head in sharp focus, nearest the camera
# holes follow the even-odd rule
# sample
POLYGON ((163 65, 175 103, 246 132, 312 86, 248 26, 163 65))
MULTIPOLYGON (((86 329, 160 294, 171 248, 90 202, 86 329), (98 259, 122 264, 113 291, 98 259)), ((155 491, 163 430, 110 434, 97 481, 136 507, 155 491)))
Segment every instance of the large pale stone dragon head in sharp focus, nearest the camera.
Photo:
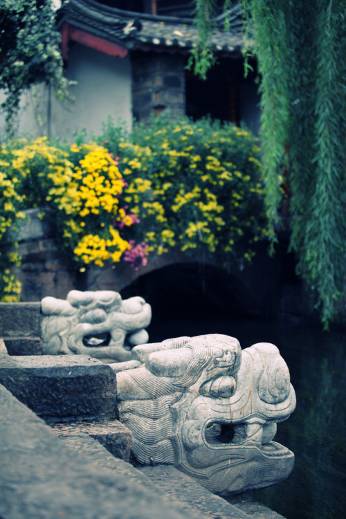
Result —
POLYGON ((294 455, 273 441, 295 409, 277 347, 242 351, 212 334, 138 345, 116 371, 118 409, 141 464, 174 464, 210 491, 239 492, 284 480, 294 455))

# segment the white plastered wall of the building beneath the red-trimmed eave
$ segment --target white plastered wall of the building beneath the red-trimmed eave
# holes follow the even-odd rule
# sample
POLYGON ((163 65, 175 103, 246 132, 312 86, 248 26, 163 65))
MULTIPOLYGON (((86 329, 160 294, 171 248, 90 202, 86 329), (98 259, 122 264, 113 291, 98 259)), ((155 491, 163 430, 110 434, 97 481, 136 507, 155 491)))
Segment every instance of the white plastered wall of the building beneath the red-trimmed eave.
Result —
MULTIPOLYGON (((51 99, 51 136, 71 140, 75 132, 86 129, 91 137, 98 135, 108 116, 114 122, 124 120, 131 130, 131 62, 125 58, 105 55, 93 48, 72 44, 66 77, 76 81, 71 86, 75 98, 63 104, 51 99)), ((0 97, 1 102, 1 97, 0 97)), ((48 89, 33 89, 23 95, 19 114, 19 135, 37 136, 48 133, 48 89)), ((0 119, 3 134, 3 117, 0 119)))

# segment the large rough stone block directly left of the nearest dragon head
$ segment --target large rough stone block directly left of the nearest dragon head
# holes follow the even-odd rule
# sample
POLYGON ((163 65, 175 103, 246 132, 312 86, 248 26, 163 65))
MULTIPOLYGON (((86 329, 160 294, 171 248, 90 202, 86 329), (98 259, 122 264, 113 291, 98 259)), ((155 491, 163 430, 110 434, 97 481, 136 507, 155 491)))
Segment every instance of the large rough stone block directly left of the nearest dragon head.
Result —
POLYGON ((95 358, 0 354, 0 383, 41 417, 116 417, 116 377, 95 358))

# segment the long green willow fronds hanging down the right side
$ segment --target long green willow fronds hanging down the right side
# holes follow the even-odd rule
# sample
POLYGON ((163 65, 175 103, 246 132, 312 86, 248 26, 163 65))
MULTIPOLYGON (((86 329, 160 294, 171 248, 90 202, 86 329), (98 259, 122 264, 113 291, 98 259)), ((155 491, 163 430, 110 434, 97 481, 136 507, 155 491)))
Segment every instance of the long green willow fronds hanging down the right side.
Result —
MULTIPOLYGON (((260 141, 272 243, 282 176, 291 250, 325 329, 346 279, 346 12, 344 0, 241 0, 260 73, 260 141)), ((208 0, 199 0, 203 15, 208 0)))

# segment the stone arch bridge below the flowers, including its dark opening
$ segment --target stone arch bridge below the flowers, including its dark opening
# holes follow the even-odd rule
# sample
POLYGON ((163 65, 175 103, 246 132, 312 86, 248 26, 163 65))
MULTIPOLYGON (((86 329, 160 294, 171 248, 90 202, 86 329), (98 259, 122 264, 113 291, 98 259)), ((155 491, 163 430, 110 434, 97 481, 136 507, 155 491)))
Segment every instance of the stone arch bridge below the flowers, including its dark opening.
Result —
POLYGON ((122 297, 142 295, 153 307, 153 316, 257 316, 273 318, 280 311, 299 313, 293 300, 301 301, 301 286, 294 275, 294 262, 281 244, 274 258, 266 246, 242 271, 225 269, 200 251, 186 255, 174 250, 151 260, 138 271, 129 264, 89 268, 86 272, 64 260, 53 237, 47 237, 37 210, 30 224, 21 229, 18 252, 22 255, 17 278, 22 283, 22 301, 39 301, 46 295, 65 299, 72 289, 114 290, 122 297))

